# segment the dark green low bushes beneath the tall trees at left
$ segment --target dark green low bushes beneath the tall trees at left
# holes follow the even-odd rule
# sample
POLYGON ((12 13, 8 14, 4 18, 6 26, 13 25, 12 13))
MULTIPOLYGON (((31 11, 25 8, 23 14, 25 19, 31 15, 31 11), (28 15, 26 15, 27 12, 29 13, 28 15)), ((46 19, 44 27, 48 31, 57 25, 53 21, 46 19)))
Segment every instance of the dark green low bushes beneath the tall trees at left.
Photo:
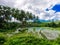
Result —
POLYGON ((1 27, 0 27, 0 29, 16 29, 16 28, 18 28, 20 25, 19 25, 19 23, 15 23, 15 22, 13 22, 13 23, 7 23, 7 22, 5 22, 5 23, 2 23, 2 25, 1 25, 1 27))

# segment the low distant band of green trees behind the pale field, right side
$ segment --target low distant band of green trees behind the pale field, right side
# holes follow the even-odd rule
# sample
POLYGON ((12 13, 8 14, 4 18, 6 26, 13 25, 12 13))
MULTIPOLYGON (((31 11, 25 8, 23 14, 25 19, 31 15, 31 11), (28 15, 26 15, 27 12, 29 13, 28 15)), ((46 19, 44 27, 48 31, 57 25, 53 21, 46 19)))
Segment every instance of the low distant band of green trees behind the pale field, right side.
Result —
POLYGON ((28 26, 30 26, 30 27, 53 27, 53 28, 57 28, 57 27, 60 27, 60 22, 58 22, 58 23, 55 23, 55 22, 31 23, 31 24, 28 24, 28 26))

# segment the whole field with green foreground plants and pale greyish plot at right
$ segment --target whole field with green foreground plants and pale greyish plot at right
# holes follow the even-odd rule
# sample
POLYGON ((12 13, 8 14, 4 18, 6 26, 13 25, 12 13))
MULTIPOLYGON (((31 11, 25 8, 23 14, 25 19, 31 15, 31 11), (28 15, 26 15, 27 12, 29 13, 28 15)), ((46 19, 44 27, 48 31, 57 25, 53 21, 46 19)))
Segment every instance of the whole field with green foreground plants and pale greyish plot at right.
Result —
POLYGON ((41 27, 39 31, 33 27, 30 30, 33 31, 0 32, 0 45, 60 45, 59 30, 49 27, 41 27))

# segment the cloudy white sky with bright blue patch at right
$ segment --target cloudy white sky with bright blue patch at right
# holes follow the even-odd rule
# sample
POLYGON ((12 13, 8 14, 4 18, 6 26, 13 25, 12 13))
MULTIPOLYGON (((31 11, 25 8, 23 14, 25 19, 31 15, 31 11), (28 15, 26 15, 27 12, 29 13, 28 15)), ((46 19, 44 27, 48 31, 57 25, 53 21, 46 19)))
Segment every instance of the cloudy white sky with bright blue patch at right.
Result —
POLYGON ((60 20, 59 4, 60 0, 0 0, 0 5, 32 12, 42 20, 60 20))

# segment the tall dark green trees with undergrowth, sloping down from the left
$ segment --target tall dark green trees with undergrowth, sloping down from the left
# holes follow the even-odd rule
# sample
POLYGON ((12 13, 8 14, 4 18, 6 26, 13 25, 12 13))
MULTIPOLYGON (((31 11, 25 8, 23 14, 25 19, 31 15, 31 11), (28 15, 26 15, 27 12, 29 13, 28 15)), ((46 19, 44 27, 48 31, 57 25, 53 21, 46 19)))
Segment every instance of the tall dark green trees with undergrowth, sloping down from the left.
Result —
POLYGON ((27 24, 26 20, 33 20, 34 18, 37 17, 28 11, 25 12, 23 10, 0 5, 0 29, 11 29, 19 26, 22 27, 27 24), (21 24, 8 22, 9 20, 12 20, 12 17, 19 20, 21 24))

